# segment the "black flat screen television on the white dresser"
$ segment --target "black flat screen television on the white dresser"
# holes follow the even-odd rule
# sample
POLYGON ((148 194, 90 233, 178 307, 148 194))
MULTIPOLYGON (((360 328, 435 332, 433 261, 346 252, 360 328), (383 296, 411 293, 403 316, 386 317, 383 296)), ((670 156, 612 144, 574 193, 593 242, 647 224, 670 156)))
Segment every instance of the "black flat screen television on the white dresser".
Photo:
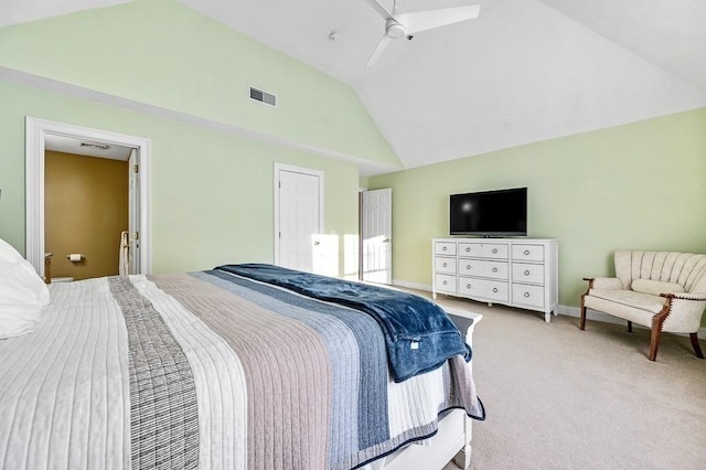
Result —
POLYGON ((451 194, 451 235, 526 236, 527 189, 451 194))

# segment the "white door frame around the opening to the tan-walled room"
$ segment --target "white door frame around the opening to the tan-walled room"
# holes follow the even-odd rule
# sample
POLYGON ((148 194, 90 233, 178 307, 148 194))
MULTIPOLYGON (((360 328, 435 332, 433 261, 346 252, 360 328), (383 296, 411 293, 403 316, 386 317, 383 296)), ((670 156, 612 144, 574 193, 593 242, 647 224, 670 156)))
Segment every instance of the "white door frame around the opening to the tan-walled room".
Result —
MULTIPOLYGON (((25 118, 25 257, 40 277, 44 277, 44 138, 60 135, 76 139, 97 140, 137 149, 140 162, 140 249, 139 274, 152 269, 150 226, 150 139, 64 122, 25 118)), ((116 249, 118 247, 116 246, 116 249)))

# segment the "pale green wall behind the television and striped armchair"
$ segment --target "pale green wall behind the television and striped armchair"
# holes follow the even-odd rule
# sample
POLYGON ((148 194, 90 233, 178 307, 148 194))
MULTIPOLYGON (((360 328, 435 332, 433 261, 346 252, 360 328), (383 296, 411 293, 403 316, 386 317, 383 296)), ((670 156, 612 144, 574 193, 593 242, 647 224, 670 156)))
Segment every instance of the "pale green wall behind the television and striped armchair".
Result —
POLYGON ((528 236, 559 241, 559 302, 616 249, 706 253, 706 109, 370 178, 393 189, 393 278, 431 285, 449 194, 528 188, 528 236))

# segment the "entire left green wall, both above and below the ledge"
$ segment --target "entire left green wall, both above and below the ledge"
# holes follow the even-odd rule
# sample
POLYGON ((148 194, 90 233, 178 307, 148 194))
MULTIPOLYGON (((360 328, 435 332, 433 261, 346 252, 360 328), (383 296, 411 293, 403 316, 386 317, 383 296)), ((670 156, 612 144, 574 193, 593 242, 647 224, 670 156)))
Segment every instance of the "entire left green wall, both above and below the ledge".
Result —
POLYGON ((357 235, 353 162, 400 168, 349 85, 172 0, 0 28, 0 67, 64 84, 47 92, 0 79, 0 237, 20 250, 26 116, 151 140, 154 273, 271 261, 275 162, 323 171, 324 232, 341 237, 343 267, 343 238, 357 235), (276 94, 277 106, 249 99, 249 86, 276 94), (71 87, 213 126, 101 105, 71 87))

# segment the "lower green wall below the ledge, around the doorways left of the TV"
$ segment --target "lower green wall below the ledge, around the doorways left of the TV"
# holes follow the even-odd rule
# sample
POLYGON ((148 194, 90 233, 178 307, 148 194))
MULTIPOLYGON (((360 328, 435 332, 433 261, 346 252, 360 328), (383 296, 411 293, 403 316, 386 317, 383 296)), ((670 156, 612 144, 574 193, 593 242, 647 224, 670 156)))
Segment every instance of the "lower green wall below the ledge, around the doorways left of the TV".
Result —
POLYGON ((151 139, 153 273, 271 263, 275 162, 323 171, 324 233, 357 234, 356 164, 8 82, 0 96, 0 237, 20 250, 25 116, 151 139))

